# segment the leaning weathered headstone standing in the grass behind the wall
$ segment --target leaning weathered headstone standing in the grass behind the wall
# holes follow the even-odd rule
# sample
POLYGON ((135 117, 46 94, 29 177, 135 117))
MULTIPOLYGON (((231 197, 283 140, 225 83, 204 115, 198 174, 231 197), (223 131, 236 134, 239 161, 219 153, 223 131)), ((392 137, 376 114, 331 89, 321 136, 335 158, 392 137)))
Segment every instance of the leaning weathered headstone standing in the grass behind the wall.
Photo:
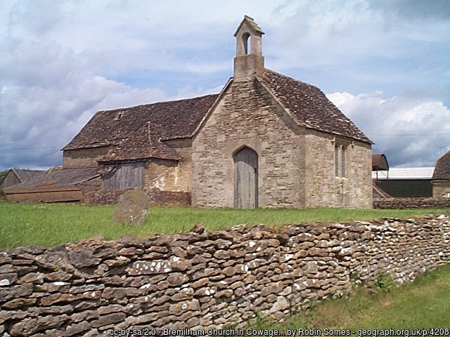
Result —
POLYGON ((119 199, 113 218, 113 223, 128 223, 141 225, 146 218, 150 206, 150 197, 143 190, 128 190, 119 199))

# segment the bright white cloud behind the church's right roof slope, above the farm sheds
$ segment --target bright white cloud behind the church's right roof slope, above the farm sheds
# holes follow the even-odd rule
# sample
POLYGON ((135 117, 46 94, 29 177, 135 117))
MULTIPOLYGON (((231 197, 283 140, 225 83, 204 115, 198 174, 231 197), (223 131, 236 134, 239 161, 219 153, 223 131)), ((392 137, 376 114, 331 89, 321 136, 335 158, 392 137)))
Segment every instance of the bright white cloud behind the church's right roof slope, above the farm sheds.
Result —
POLYGON ((442 102, 423 97, 383 93, 327 95, 384 153, 390 166, 435 166, 450 150, 450 110, 442 102))

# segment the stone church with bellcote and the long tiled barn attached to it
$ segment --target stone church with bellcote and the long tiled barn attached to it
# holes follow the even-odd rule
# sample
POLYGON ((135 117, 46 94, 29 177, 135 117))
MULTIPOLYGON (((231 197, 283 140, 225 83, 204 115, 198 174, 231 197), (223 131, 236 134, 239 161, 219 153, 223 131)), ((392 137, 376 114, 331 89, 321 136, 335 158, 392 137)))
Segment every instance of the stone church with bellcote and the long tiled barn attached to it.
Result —
POLYGON ((137 187, 155 204, 371 208, 371 140, 319 88, 266 69, 263 34, 243 18, 217 95, 97 112, 63 149, 61 171, 90 172, 73 184, 84 201, 137 187))

